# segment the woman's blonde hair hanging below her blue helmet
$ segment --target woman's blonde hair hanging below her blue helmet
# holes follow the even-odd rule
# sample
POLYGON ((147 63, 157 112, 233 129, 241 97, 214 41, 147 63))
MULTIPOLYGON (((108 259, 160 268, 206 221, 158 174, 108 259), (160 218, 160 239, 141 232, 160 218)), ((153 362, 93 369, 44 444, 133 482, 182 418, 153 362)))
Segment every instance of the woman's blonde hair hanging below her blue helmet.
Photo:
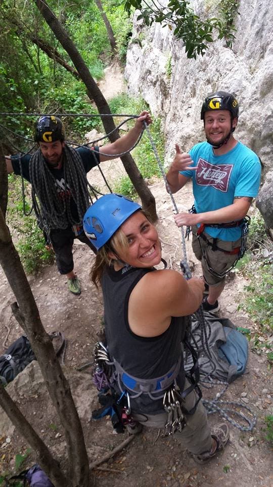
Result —
MULTIPOLYGON (((146 218, 151 222, 151 217, 144 212, 143 210, 140 211, 146 218)), ((116 254, 117 258, 119 255, 122 255, 129 247, 128 240, 124 232, 121 228, 115 231, 114 235, 111 237, 108 242, 98 251, 96 255, 95 263, 93 264, 89 277, 90 280, 95 284, 98 288, 98 285, 101 282, 103 271, 106 267, 110 267, 113 263, 114 259, 109 256, 109 253, 112 252, 116 254)))

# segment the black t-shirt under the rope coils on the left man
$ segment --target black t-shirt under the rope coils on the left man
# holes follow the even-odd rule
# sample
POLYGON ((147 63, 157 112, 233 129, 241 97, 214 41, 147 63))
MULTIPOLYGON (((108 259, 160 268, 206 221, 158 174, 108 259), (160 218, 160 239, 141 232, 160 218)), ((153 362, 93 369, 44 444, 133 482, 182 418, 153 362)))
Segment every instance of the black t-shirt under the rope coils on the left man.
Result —
MULTIPOLYGON (((96 146, 95 150, 99 151, 99 147, 96 146)), ((94 152, 92 149, 89 149, 88 147, 78 147, 76 149, 76 151, 82 160, 82 164, 83 164, 83 167, 84 167, 86 173, 90 169, 92 169, 93 167, 97 166, 100 163, 100 155, 97 154, 97 152, 94 152)), ((23 178, 26 179, 28 182, 30 182, 30 177, 29 177, 29 161, 30 161, 30 158, 31 158, 30 154, 25 154, 21 157, 22 175, 23 175, 23 178)), ((19 157, 19 155, 17 154, 15 156, 12 156, 11 161, 12 161, 14 173, 16 175, 20 175, 21 171, 20 171, 20 162, 19 162, 20 157, 19 157)), ((67 186, 65 185, 64 168, 61 167, 61 169, 56 169, 54 167, 51 167, 50 165, 48 165, 48 167, 56 179, 56 189, 59 193, 60 198, 68 197, 69 188, 67 188, 67 186), (65 189, 66 189, 66 191, 65 191, 65 189)), ((71 208, 71 213, 72 213, 74 220, 79 222, 77 206, 76 206, 76 203, 73 200, 73 198, 70 199, 70 208, 71 208)))

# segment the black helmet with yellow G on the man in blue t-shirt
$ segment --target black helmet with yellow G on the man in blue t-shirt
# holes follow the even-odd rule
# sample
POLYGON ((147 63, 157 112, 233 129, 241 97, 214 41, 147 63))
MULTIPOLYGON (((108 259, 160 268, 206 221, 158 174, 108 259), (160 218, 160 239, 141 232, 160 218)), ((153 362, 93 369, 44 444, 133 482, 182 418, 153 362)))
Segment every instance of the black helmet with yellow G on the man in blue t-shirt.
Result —
POLYGON ((215 91, 205 98, 201 109, 201 120, 204 120, 205 112, 213 110, 229 110, 232 118, 239 117, 238 101, 232 93, 226 91, 215 91))

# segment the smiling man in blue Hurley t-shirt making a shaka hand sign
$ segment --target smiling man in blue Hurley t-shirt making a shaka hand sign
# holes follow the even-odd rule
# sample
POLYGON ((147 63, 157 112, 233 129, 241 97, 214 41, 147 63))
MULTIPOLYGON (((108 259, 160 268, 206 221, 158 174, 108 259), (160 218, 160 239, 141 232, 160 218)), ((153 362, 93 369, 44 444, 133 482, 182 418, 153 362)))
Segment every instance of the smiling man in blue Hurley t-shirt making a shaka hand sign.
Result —
POLYGON ((208 289, 203 308, 211 312, 219 309, 226 273, 242 256, 244 218, 260 183, 258 156, 233 136, 238 116, 238 101, 231 93, 208 95, 201 110, 207 142, 196 144, 189 154, 176 144, 167 173, 172 193, 193 180, 194 213, 179 213, 174 219, 178 227, 192 227, 193 250, 208 289))

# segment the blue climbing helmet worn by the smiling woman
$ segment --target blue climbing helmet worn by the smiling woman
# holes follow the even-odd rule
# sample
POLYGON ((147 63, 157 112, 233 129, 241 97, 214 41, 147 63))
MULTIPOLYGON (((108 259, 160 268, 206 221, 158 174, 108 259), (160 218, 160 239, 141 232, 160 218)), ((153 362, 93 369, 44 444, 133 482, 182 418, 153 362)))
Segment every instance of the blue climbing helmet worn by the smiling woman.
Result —
POLYGON ((122 194, 105 194, 92 204, 83 217, 86 237, 100 250, 122 223, 141 206, 122 194))

